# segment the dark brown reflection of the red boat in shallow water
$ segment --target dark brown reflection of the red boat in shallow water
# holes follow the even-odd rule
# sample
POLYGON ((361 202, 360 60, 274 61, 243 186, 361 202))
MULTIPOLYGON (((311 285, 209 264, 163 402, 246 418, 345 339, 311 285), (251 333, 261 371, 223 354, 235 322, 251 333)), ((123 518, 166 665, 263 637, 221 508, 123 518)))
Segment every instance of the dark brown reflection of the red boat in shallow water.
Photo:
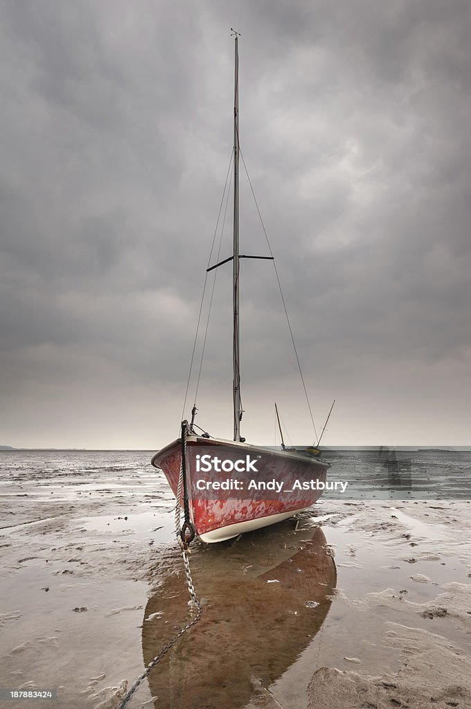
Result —
MULTIPOLYGON (((204 612, 150 672, 156 709, 242 708, 254 678, 269 686, 308 647, 330 608, 336 565, 320 527, 295 525, 287 520, 236 542, 194 546, 192 576, 204 612)), ((145 608, 146 665, 189 619, 182 561, 171 554, 155 569, 160 585, 145 608)))

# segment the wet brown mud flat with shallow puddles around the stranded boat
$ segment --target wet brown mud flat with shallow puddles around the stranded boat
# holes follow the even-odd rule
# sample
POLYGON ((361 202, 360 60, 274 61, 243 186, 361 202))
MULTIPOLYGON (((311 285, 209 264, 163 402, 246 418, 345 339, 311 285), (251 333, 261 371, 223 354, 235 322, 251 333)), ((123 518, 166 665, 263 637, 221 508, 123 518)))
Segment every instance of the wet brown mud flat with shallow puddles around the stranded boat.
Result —
MULTIPOLYGON (((172 495, 145 452, 9 455, 0 688, 117 707, 191 617, 172 495)), ((204 613, 128 707, 471 707, 470 513, 326 495, 299 520, 196 542, 204 613)))

